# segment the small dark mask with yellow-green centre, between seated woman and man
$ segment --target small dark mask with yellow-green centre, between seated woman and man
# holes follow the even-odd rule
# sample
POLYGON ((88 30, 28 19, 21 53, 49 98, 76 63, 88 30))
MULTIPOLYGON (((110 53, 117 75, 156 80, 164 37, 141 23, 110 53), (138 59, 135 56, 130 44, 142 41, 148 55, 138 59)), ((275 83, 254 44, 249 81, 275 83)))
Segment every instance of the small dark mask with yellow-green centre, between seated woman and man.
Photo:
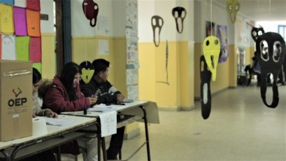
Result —
POLYGON ((94 74, 94 66, 92 65, 91 62, 85 61, 85 62, 80 63, 80 67, 83 73, 81 75, 81 78, 83 79, 83 82, 87 84, 90 82, 94 74))

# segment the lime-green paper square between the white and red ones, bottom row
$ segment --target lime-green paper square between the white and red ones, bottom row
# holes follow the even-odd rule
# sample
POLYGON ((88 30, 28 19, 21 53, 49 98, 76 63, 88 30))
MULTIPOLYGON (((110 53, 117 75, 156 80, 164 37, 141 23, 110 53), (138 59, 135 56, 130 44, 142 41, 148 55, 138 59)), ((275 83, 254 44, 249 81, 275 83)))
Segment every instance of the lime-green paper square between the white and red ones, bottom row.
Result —
POLYGON ((16 36, 17 60, 29 61, 30 36, 16 36))

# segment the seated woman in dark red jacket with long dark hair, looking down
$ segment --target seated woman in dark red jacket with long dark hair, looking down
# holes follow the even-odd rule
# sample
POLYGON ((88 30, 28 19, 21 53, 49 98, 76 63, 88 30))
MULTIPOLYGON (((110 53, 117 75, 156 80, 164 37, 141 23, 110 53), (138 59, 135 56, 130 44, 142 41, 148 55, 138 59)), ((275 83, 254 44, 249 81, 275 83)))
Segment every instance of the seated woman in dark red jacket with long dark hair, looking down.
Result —
MULTIPOLYGON (((90 108, 92 104, 95 104, 97 97, 85 97, 80 92, 80 75, 81 69, 78 64, 74 62, 65 64, 62 69, 62 75, 60 77, 55 76, 52 85, 45 92, 43 108, 61 113, 65 111, 83 111, 85 106, 90 108)), ((78 146, 80 146, 80 152, 83 153, 84 161, 97 160, 96 145, 95 138, 87 136, 78 139, 78 146)))

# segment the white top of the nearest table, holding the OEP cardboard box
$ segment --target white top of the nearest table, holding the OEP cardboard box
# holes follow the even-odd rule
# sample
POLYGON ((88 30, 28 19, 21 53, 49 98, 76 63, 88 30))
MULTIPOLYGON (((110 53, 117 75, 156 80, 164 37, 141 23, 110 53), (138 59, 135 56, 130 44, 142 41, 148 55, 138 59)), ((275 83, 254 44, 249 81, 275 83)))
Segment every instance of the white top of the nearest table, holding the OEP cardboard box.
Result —
MULTIPOLYGON (((59 117, 62 118, 63 115, 59 115, 59 117)), ((59 134, 62 132, 65 132, 67 130, 72 130, 76 127, 84 126, 90 123, 95 123, 96 118, 85 118, 85 117, 77 117, 77 116, 64 116, 66 120, 76 120, 76 123, 72 123, 70 125, 64 125, 64 126, 54 126, 54 125, 47 125, 48 133, 47 134, 42 134, 38 136, 30 136, 30 137, 24 137, 20 139, 15 139, 11 141, 6 141, 6 142, 0 142, 0 146, 6 145, 6 144, 13 144, 14 146, 17 144, 23 144, 29 141, 35 141, 39 139, 44 139, 46 137, 50 137, 55 134, 59 134)))

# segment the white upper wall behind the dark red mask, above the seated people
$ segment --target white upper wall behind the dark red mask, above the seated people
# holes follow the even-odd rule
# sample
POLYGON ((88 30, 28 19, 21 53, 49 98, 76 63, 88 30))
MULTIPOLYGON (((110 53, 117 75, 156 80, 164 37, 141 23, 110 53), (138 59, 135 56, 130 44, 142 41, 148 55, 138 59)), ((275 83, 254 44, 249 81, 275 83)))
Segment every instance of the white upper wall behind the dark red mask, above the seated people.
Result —
POLYGON ((90 20, 83 13, 83 0, 71 1, 72 36, 125 36, 126 0, 97 0, 99 6, 96 26, 90 26, 90 20), (108 20, 108 30, 99 29, 99 19, 108 20))

